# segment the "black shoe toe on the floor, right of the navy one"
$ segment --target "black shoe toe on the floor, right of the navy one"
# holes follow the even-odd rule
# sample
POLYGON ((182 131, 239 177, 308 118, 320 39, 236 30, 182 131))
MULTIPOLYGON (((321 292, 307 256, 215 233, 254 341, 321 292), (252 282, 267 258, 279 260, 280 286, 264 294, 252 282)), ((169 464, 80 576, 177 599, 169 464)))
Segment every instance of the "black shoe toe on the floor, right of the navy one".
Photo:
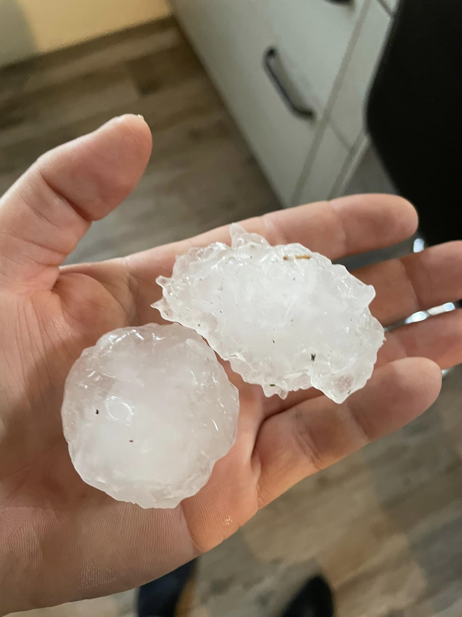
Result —
POLYGON ((309 579, 282 617, 334 617, 334 597, 326 579, 322 576, 309 579))

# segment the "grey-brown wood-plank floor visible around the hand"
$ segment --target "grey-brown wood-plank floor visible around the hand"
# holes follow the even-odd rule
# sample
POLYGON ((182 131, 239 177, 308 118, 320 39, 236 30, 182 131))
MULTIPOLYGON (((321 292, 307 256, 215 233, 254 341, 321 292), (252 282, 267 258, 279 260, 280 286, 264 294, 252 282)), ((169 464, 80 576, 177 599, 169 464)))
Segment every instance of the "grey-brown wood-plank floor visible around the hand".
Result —
MULTIPOLYGON (((46 149, 124 112, 151 126, 152 160, 73 260, 128 254, 278 207, 172 20, 0 70, 0 191, 46 149)), ((180 615, 277 617, 323 571, 339 617, 460 617, 461 412, 458 368, 423 418, 301 482, 201 558, 180 615)), ((134 594, 33 615, 134 615, 134 594)))

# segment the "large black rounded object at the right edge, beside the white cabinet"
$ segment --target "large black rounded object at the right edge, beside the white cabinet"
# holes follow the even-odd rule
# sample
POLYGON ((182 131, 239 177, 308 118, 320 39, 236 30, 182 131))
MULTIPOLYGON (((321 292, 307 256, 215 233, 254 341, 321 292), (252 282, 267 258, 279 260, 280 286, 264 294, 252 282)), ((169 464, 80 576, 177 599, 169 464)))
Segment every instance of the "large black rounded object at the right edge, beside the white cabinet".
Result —
POLYGON ((371 141, 428 244, 460 239, 462 5, 401 0, 367 106, 371 141))

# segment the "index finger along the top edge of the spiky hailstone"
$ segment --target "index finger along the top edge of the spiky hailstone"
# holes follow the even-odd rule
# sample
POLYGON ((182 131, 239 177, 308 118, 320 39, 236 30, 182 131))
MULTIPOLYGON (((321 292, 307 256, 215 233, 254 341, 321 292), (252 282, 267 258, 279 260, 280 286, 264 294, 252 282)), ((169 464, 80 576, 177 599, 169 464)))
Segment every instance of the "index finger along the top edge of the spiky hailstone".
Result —
MULTIPOLYGON (((414 207, 402 197, 371 194, 340 197, 277 210, 241 222, 270 244, 300 242, 330 259, 373 251, 409 238, 418 223, 414 207)), ((229 242, 229 225, 180 242, 143 251, 128 258, 131 274, 149 284, 155 299, 156 276, 171 276, 176 255, 193 246, 229 242)), ((153 301, 152 300, 152 301, 153 301)))

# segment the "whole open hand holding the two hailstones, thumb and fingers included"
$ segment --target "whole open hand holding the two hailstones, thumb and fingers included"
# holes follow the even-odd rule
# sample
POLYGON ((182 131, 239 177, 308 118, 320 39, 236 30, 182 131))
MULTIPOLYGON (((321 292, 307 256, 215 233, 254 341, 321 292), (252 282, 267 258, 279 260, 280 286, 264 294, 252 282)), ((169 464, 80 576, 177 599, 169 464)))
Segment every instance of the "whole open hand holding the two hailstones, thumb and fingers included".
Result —
MULTIPOLYGON (((105 332, 161 321, 150 304, 190 246, 227 228, 123 259, 60 267, 92 220, 144 172, 150 133, 137 117, 39 159, 0 202, 0 614, 109 594, 176 568, 230 536, 305 476, 422 413, 441 368, 462 361, 455 311, 387 335, 367 386, 335 405, 316 391, 282 401, 231 373, 237 442, 208 484, 174 510, 142 510, 87 486, 71 465, 60 404, 71 365, 105 332)), ((242 197, 245 199, 245 195, 242 197)), ((416 213, 391 196, 345 197, 243 223, 272 244, 301 242, 331 259, 401 241, 416 213)), ((384 326, 462 297, 462 243, 363 268, 384 326)))

